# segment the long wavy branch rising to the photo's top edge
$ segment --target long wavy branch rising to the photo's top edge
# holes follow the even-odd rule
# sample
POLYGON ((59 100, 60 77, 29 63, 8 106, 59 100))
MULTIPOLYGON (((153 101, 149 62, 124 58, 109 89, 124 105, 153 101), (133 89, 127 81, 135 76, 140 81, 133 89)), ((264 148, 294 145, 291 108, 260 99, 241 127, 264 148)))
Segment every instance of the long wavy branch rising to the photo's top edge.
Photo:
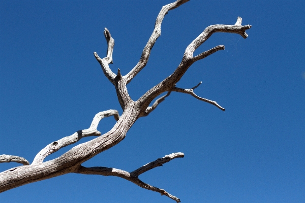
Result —
POLYGON ((148 62, 148 58, 150 56, 150 51, 155 45, 157 39, 161 35, 161 23, 163 21, 164 16, 168 13, 168 11, 175 9, 179 7, 180 5, 188 2, 190 0, 177 0, 174 3, 165 5, 162 7, 155 23, 155 29, 153 33, 151 34, 146 46, 144 47, 144 50, 142 52, 141 58, 138 62, 138 64, 126 75, 126 82, 127 84, 145 67, 145 65, 148 62))

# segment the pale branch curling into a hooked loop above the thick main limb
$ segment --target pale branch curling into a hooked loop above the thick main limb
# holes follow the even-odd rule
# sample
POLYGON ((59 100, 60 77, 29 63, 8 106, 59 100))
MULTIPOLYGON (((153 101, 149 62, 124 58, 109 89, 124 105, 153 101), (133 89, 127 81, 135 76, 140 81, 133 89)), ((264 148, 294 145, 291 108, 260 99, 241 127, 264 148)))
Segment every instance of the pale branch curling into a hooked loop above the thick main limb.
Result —
POLYGON ((59 149, 61 149, 63 147, 72 145, 84 137, 100 136, 101 132, 97 130, 97 127, 99 125, 100 120, 105 117, 108 117, 108 116, 114 116, 116 121, 118 121, 118 119, 119 119, 119 114, 118 114, 118 111, 116 111, 116 110, 102 111, 102 112, 96 114, 88 129, 78 130, 71 136, 62 138, 60 140, 57 140, 57 141, 52 142, 51 144, 47 145, 35 156, 34 161, 32 162, 31 165, 42 163, 43 160, 48 155, 50 155, 54 152, 57 152, 59 149))

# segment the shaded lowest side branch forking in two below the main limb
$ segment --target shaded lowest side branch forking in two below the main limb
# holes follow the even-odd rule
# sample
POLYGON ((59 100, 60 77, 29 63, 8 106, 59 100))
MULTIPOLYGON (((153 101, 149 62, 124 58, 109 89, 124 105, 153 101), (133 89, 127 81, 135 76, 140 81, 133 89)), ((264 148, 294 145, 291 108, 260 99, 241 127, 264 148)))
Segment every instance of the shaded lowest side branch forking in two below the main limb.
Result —
POLYGON ((157 160, 147 163, 144 166, 138 168, 137 170, 129 173, 127 171, 119 170, 116 168, 108 168, 108 167, 84 167, 80 166, 74 173, 78 174, 86 174, 86 175, 102 175, 102 176, 116 176, 120 178, 124 178, 126 180, 129 180, 130 182, 135 183, 136 185, 147 189, 147 190, 152 190, 155 192, 159 192, 161 195, 166 195, 169 198, 175 200, 176 202, 180 202, 180 199, 169 194, 166 192, 164 189, 160 189, 154 186, 151 186, 147 183, 142 182, 138 176, 155 168, 158 166, 162 166, 162 164, 169 162, 170 160, 174 158, 179 158, 179 157, 184 157, 183 153, 172 153, 170 155, 166 155, 163 158, 158 158, 157 160))

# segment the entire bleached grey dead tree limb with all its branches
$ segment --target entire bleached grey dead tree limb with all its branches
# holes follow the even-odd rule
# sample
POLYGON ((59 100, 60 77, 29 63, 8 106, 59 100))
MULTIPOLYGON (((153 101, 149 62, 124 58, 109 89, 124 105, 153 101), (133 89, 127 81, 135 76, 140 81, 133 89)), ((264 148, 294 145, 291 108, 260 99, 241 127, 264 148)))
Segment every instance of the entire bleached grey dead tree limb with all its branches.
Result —
POLYGON ((118 176, 127 179, 142 188, 157 191, 174 199, 177 202, 180 202, 177 197, 169 194, 165 190, 143 183, 138 178, 138 176, 142 173, 147 172, 148 170, 151 170, 152 168, 155 168, 157 166, 162 165, 163 163, 172 160, 173 158, 183 157, 184 154, 182 153, 173 153, 167 155, 161 159, 157 159, 156 161, 150 162, 131 173, 108 167, 86 168, 81 164, 86 160, 96 156, 97 154, 115 146, 116 144, 124 140, 124 138, 126 137, 126 133, 136 122, 136 120, 140 117, 149 115, 149 113, 155 110, 156 107, 162 101, 164 101, 165 97, 169 96, 172 91, 190 94, 195 98, 210 103, 223 111, 225 110, 224 108, 219 106, 216 101, 199 97, 194 93, 194 89, 197 88, 201 84, 201 82, 191 89, 178 88, 176 87, 176 83, 179 82, 181 77, 186 73, 186 71, 194 62, 203 59, 219 50, 224 49, 223 45, 219 45, 210 50, 204 51, 198 54, 197 56, 193 56, 194 51, 201 44, 203 44, 213 33, 231 32, 237 33, 243 38, 248 37, 246 30, 250 29, 251 25, 241 25, 242 19, 240 17, 237 18, 237 22, 234 25, 219 24, 211 25, 205 28, 204 31, 200 33, 200 35, 195 40, 193 40, 193 42, 191 42, 190 45, 186 48, 184 56, 182 57, 181 62, 179 63, 175 71, 170 76, 161 81, 159 84, 149 89, 140 98, 138 98, 137 100, 133 100, 128 93, 127 84, 131 82, 131 80, 147 64, 150 51, 161 35, 161 23, 163 21, 164 16, 168 13, 168 11, 175 9, 186 2, 188 2, 188 0, 177 0, 174 3, 162 7, 155 23, 155 29, 151 34, 146 46, 144 47, 139 62, 125 76, 122 76, 120 74, 119 69, 117 70, 117 74, 114 74, 109 67, 109 64, 113 63, 112 53, 114 48, 114 39, 111 37, 110 31, 105 28, 104 36, 108 46, 106 56, 104 58, 100 58, 96 52, 94 52, 94 56, 100 63, 102 71, 106 78, 114 85, 119 104, 123 109, 123 113, 121 114, 121 116, 118 115, 118 112, 116 110, 108 110, 98 113, 88 129, 79 130, 69 137, 65 137, 47 145, 36 155, 31 165, 28 165, 29 163, 21 157, 10 155, 0 156, 2 157, 2 159, 0 158, 0 160, 2 160, 0 162, 16 161, 25 164, 23 166, 13 167, 10 170, 0 173, 0 192, 19 187, 28 183, 33 183, 36 181, 41 181, 68 173, 99 174, 104 176, 118 176), (155 101, 152 106, 149 106, 154 99, 159 97, 159 95, 163 94, 164 92, 167 92, 167 94, 161 96, 155 101), (112 129, 101 135, 101 132, 97 130, 97 126, 102 118, 111 115, 114 116, 117 122, 112 127, 112 129), (76 145, 71 150, 55 159, 43 162, 44 158, 49 154, 59 150, 60 148, 63 148, 70 144, 74 144, 81 138, 88 136, 98 137, 86 143, 76 145))

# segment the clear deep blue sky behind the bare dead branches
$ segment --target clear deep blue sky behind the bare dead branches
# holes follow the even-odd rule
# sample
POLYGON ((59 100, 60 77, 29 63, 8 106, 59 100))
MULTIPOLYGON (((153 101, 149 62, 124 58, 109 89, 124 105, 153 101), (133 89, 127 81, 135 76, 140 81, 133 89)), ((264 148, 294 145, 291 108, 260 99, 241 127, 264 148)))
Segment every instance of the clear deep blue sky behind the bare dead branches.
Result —
MULTIPOLYGON (((162 6, 172 1, 0 1, 0 154, 33 161, 49 143, 117 109, 113 85, 93 52, 127 74, 138 62, 162 6)), ((140 118, 124 141, 85 166, 126 171, 173 152, 140 178, 182 202, 305 201, 303 1, 190 1, 172 10, 145 69, 128 85, 134 100, 170 75, 186 47, 212 24, 251 24, 249 38, 216 33, 177 84, 226 108, 172 93, 140 118)), ((114 125, 105 118, 98 129, 114 125)), ((85 138, 86 142, 93 138, 85 138)), ((73 145, 75 146, 75 145, 73 145)), ((50 155, 60 156, 73 146, 50 155)), ((2 163, 5 171, 17 163, 2 163)), ((124 179, 68 174, 0 194, 1 202, 174 202, 124 179)))

